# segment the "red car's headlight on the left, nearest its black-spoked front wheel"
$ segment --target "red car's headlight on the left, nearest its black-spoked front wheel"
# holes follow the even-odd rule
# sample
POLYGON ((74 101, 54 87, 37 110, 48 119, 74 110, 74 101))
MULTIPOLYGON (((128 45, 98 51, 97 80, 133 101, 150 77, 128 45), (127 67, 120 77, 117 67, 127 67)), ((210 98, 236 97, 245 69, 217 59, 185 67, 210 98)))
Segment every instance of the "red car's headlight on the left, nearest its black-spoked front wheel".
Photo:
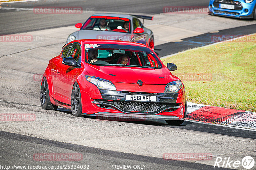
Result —
POLYGON ((92 84, 97 86, 99 89, 104 89, 104 90, 116 90, 115 85, 108 80, 104 80, 98 77, 93 77, 93 76, 85 76, 87 81, 90 81, 92 84))

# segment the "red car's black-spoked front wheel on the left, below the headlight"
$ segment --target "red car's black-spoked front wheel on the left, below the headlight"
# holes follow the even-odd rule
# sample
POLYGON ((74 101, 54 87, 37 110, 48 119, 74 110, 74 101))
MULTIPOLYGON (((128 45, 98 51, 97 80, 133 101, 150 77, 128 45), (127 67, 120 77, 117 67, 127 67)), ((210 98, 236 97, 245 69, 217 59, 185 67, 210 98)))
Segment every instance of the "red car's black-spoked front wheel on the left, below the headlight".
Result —
POLYGON ((75 82, 72 93, 71 93, 71 111, 73 116, 83 117, 82 113, 82 101, 81 101, 81 92, 77 82, 75 82))

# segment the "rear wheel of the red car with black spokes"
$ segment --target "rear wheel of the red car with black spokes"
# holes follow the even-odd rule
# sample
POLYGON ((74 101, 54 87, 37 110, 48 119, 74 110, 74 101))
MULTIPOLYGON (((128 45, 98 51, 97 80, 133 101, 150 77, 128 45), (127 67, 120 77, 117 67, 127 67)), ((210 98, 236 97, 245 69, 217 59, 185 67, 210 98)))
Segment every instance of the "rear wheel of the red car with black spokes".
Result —
POLYGON ((55 106, 51 103, 50 95, 49 95, 49 89, 48 89, 48 83, 46 78, 43 78, 42 84, 41 84, 41 90, 40 90, 40 102, 41 106, 45 110, 57 110, 58 106, 55 106))

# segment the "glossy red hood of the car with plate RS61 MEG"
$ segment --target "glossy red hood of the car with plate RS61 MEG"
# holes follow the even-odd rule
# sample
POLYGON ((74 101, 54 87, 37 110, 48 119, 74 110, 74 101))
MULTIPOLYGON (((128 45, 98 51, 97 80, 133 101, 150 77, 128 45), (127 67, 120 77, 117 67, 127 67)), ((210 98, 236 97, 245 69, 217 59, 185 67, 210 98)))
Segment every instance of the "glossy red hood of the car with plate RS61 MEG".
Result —
POLYGON ((143 84, 164 84, 178 80, 166 68, 140 68, 140 67, 113 67, 113 66, 93 66, 87 69, 88 73, 95 77, 100 77, 112 82, 134 83, 138 80, 143 84), (111 75, 110 75, 111 74, 111 75))

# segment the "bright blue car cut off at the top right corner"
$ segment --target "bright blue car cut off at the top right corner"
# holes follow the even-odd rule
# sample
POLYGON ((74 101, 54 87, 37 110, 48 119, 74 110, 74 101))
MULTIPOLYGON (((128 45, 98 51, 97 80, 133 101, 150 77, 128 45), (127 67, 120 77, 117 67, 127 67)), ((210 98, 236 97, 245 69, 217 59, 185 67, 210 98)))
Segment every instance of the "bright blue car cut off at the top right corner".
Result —
POLYGON ((211 15, 232 18, 253 18, 256 20, 256 0, 210 0, 211 15))

